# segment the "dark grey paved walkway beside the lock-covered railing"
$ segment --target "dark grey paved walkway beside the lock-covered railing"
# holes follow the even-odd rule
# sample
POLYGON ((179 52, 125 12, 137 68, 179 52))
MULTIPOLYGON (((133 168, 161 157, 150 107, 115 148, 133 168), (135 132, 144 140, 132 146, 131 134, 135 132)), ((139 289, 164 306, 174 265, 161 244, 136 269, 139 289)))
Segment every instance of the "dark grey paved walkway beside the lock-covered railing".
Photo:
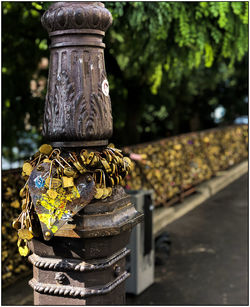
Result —
MULTIPOLYGON (((127 305, 248 304, 248 175, 166 227, 171 255, 155 283, 127 305)), ((32 305, 28 279, 2 292, 2 305, 32 305)))

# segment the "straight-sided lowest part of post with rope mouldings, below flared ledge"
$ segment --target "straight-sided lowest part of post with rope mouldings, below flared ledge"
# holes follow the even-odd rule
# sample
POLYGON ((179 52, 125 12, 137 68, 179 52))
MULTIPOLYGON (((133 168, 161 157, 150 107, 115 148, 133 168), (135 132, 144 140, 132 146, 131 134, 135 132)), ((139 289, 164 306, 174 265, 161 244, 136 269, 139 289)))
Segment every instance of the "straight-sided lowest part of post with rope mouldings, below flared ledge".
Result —
POLYGON ((126 231, 104 238, 32 240, 35 305, 123 304, 129 236, 126 231))

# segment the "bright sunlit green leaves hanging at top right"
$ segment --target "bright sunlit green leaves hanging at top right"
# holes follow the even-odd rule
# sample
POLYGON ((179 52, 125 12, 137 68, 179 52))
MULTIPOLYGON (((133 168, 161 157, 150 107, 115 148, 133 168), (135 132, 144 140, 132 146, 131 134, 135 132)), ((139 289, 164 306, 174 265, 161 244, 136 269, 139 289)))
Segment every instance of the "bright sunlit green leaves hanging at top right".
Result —
POLYGON ((107 3, 109 6, 115 16, 111 36, 119 41, 117 33, 123 33, 114 54, 119 63, 120 53, 129 59, 127 77, 146 70, 145 81, 154 94, 161 84, 162 65, 178 80, 182 78, 180 67, 192 73, 192 69, 211 67, 215 59, 223 57, 229 58, 232 66, 247 52, 246 2, 107 3))

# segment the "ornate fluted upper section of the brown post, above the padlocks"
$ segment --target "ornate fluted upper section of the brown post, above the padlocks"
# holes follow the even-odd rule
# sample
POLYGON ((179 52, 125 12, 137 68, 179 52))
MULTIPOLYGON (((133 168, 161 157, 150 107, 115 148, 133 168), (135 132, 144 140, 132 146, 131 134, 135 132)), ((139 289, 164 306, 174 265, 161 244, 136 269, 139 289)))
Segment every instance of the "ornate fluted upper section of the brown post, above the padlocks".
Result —
POLYGON ((51 38, 43 134, 50 141, 106 140, 113 132, 102 38, 112 23, 100 2, 58 2, 43 15, 51 38))

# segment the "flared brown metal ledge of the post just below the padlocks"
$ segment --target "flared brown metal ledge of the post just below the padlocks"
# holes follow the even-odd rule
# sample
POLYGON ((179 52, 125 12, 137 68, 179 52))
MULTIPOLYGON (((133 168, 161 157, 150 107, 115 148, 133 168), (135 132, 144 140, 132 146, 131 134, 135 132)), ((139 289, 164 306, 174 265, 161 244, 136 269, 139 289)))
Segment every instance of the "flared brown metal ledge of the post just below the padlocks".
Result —
POLYGON ((65 224, 56 236, 73 238, 114 236, 130 230, 142 219, 143 214, 136 211, 130 196, 118 186, 111 197, 91 201, 74 216, 72 222, 65 224))

